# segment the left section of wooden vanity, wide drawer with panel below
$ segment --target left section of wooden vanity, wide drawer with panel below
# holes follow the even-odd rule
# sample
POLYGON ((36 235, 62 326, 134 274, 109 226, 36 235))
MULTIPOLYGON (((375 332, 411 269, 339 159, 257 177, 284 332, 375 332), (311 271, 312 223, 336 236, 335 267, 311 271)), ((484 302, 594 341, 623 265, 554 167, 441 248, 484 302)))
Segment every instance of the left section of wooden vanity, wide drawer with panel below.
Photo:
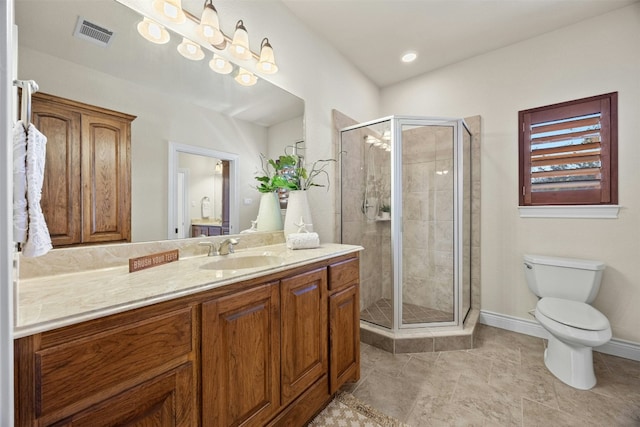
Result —
POLYGON ((17 340, 16 426, 195 426, 196 319, 151 307, 17 340))

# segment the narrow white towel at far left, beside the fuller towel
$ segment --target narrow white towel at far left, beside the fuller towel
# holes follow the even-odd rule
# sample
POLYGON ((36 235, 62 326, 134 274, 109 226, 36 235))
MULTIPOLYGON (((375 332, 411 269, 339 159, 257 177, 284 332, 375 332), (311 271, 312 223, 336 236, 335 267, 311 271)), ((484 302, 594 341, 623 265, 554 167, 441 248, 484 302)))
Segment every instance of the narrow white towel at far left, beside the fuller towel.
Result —
POLYGON ((13 240, 27 241, 27 132, 22 121, 13 127, 13 240))

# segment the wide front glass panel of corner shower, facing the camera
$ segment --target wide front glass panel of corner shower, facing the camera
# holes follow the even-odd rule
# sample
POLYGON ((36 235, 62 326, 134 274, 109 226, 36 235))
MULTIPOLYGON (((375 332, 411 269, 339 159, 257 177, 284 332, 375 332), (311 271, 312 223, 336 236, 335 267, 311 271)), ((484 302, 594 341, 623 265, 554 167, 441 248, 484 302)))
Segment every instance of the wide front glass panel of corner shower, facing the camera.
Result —
POLYGON ((401 327, 455 321, 455 131, 456 122, 399 120, 401 327))

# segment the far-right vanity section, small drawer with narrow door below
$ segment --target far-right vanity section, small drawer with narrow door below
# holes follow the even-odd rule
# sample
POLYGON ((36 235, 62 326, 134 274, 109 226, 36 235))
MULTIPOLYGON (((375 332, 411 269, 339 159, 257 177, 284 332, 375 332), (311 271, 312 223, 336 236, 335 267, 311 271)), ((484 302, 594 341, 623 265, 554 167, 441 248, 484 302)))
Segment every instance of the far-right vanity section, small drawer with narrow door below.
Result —
POLYGON ((358 258, 329 266, 330 391, 360 379, 360 265, 358 258))

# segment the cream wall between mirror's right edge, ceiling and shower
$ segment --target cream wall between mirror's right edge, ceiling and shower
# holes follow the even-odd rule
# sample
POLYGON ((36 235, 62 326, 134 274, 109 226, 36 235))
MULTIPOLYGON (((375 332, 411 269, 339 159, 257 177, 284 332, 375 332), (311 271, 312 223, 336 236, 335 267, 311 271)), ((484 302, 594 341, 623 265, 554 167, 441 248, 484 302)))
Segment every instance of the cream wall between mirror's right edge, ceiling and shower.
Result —
MULTIPOLYGON (((307 161, 336 155, 332 147, 332 109, 358 121, 379 116, 378 88, 280 2, 234 1, 227 2, 225 7, 234 9, 225 16, 242 17, 250 29, 252 46, 259 45, 262 35, 269 37, 279 67, 278 73, 269 76, 269 80, 304 100, 307 161)), ((323 188, 309 192, 313 228, 322 242, 334 239, 334 205, 326 203, 335 200, 334 182, 332 178, 328 193, 323 188)))

